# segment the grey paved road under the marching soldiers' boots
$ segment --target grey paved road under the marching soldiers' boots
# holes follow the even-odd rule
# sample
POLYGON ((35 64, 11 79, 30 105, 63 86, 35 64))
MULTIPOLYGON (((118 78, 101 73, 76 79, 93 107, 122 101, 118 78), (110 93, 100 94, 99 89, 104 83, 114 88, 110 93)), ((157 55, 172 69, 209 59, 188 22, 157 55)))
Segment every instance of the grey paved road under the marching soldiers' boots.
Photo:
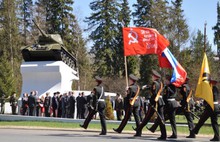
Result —
MULTIPOLYGON (((109 132, 106 136, 99 136, 98 131, 92 130, 54 130, 32 128, 0 128, 1 142, 149 142, 158 141, 158 134, 144 134, 142 137, 133 137, 133 133, 116 134, 109 132)), ((210 136, 199 136, 196 139, 186 139, 179 136, 180 142, 207 142, 210 136)))

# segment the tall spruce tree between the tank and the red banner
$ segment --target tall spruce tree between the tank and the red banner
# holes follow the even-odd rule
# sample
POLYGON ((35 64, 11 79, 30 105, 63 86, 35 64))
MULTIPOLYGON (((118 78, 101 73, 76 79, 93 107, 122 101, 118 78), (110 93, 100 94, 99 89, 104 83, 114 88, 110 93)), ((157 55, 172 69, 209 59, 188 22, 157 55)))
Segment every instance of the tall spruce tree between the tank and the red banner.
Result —
MULTIPOLYGON (((88 29, 91 31, 90 38, 94 42, 91 53, 94 55, 96 73, 103 76, 115 75, 115 54, 118 44, 118 20, 121 5, 118 0, 95 0, 90 3, 93 11, 91 16, 86 17, 88 29)), ((121 26, 120 26, 121 27, 121 26)), ((121 31, 121 30, 120 30, 121 31)), ((117 58, 116 58, 117 61, 117 58)))

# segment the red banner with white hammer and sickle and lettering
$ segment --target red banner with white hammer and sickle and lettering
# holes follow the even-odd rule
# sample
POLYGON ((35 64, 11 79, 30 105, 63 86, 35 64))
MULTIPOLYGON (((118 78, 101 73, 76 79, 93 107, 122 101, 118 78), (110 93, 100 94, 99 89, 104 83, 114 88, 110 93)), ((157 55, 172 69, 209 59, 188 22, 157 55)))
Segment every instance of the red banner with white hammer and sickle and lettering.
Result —
POLYGON ((169 41, 156 29, 144 27, 123 28, 124 55, 161 54, 169 41))

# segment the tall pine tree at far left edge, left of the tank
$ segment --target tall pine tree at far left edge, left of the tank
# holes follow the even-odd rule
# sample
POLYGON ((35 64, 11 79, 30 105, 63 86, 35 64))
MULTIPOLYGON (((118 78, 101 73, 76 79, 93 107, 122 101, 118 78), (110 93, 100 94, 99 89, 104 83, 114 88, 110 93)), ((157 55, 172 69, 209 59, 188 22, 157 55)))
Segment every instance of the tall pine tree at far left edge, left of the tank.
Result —
MULTIPOLYGON (((18 36, 18 22, 16 17, 16 4, 14 0, 3 0, 0 3, 1 32, 0 32, 0 66, 1 88, 6 88, 7 95, 13 91, 20 91, 20 38, 18 36)), ((2 89, 5 91, 5 89, 2 89)))

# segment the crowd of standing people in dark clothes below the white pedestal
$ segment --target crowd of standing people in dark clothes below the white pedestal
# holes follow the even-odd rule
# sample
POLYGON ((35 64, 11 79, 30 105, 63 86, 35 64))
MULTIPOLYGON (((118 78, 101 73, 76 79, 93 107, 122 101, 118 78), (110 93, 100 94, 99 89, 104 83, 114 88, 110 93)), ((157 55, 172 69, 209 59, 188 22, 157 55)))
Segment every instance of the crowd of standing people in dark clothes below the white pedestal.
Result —
MULTIPOLYGON (((69 91, 63 94, 54 92, 53 95, 47 92, 45 96, 38 97, 37 91, 31 91, 30 94, 23 94, 20 114, 27 116, 74 118, 76 113, 77 119, 84 119, 88 112, 87 106, 90 104, 90 96, 85 96, 84 92, 81 92, 75 97, 74 92, 69 91), (76 112, 75 109, 77 110, 76 112)), ((11 106, 13 106, 12 102, 11 106)))

